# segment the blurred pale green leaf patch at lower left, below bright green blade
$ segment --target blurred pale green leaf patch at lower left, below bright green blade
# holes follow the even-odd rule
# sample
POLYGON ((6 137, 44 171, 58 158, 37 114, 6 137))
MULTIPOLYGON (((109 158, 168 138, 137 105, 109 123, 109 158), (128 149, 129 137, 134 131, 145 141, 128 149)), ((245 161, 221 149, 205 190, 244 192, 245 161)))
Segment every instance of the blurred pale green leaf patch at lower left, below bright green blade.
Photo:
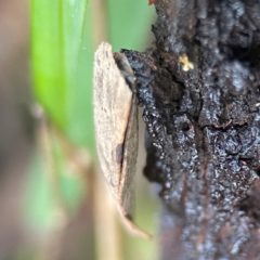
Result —
POLYGON ((26 188, 26 220, 31 226, 43 231, 58 224, 58 211, 73 218, 87 192, 79 172, 68 167, 58 140, 52 136, 50 141, 53 159, 42 159, 43 154, 36 151, 26 188))

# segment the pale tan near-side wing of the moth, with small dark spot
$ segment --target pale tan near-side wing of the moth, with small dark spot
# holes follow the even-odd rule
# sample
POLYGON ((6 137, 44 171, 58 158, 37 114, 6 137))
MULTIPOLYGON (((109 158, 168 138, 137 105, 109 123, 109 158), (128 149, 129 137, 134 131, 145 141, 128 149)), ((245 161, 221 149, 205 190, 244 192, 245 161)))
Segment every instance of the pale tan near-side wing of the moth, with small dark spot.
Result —
POLYGON ((95 52, 93 92, 98 155, 109 190, 118 202, 132 91, 115 63, 112 47, 105 42, 95 52))

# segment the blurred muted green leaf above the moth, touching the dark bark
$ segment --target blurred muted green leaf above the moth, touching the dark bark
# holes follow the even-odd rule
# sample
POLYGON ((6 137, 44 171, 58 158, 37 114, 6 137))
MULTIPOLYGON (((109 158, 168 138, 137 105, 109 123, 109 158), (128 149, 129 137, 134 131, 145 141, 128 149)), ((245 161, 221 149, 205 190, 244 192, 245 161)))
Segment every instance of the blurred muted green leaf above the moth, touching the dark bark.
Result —
POLYGON ((115 51, 143 51, 150 47, 155 9, 147 0, 107 0, 107 12, 109 43, 115 51))

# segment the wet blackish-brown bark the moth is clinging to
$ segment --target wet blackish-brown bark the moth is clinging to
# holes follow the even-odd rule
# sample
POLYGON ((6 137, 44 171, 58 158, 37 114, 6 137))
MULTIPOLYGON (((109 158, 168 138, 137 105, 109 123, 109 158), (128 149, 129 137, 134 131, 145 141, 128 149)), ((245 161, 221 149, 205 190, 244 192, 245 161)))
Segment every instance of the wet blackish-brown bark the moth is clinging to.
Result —
POLYGON ((138 77, 162 259, 260 259, 260 2, 157 0, 138 77))

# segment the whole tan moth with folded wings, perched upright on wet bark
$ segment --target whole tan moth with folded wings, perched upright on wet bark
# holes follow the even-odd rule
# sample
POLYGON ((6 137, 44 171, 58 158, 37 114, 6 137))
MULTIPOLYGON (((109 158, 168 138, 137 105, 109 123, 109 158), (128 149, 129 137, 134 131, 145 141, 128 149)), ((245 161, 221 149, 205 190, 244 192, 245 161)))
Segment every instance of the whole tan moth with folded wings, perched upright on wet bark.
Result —
POLYGON ((112 47, 105 42, 94 56, 93 91, 101 169, 127 226, 150 238, 151 235, 132 222, 138 157, 135 77, 127 57, 113 54, 112 47))

